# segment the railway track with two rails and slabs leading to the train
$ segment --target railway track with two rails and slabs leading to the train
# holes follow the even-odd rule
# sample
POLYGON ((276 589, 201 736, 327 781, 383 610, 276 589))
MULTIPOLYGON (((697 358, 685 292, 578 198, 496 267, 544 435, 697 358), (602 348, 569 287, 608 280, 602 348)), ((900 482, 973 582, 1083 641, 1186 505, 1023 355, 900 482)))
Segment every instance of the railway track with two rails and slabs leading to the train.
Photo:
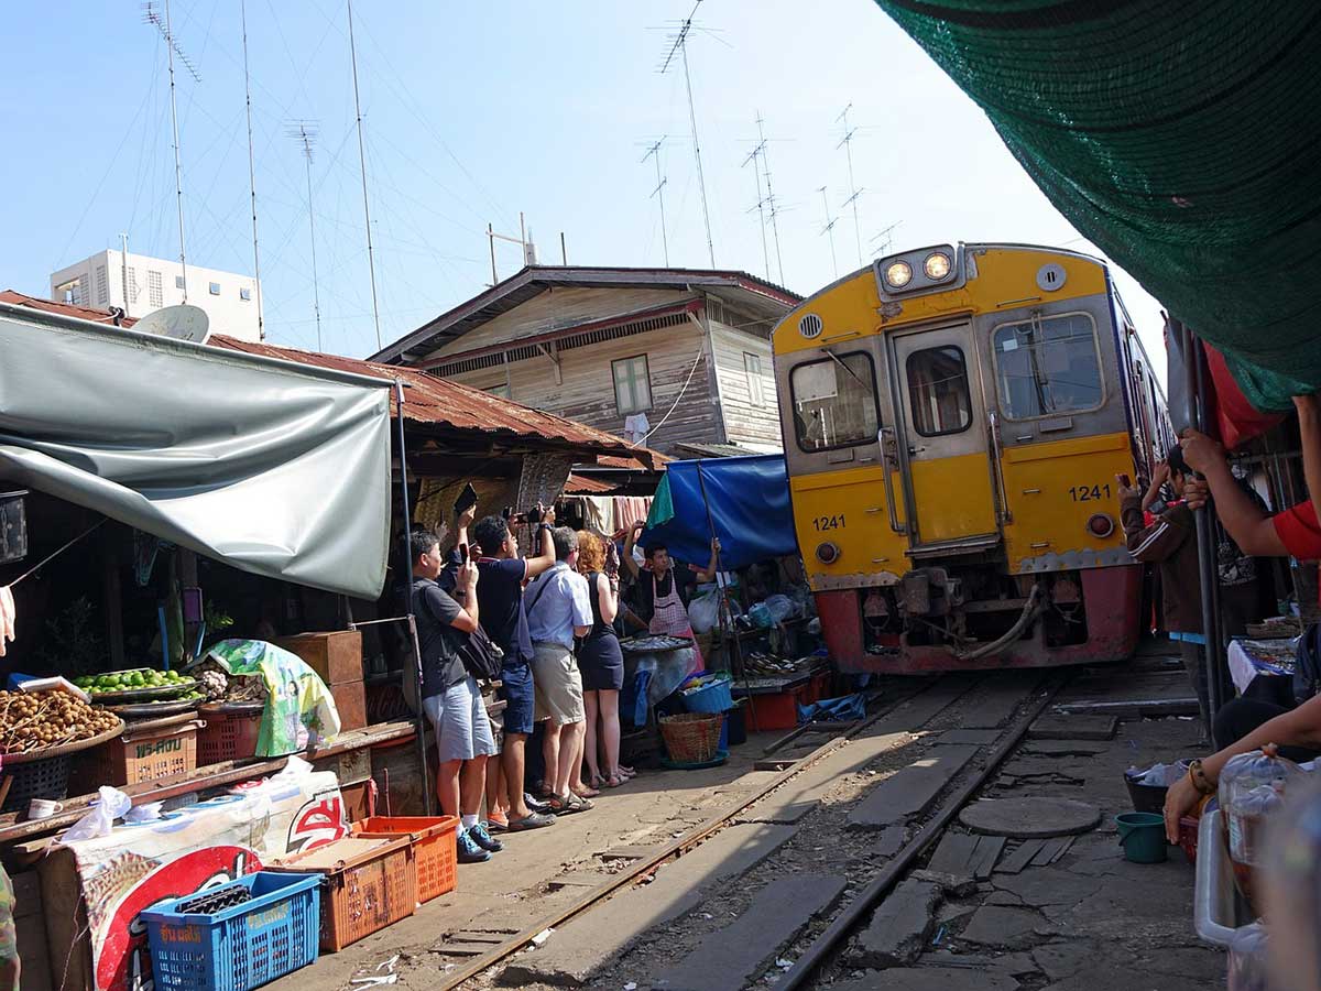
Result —
POLYGON ((1065 680, 947 675, 909 691, 572 904, 456 958, 432 986, 725 990, 756 983, 777 959, 791 962, 777 988, 811 987, 1065 680), (701 963, 696 984, 675 973, 724 945, 736 951, 701 963))

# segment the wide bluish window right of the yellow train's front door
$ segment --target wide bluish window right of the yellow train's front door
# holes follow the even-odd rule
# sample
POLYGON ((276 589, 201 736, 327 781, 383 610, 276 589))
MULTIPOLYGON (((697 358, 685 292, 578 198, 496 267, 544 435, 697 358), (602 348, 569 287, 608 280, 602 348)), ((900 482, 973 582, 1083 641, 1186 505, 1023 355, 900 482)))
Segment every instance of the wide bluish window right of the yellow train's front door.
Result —
POLYGON ((1011 420, 1096 410, 1104 402, 1096 326, 1086 313, 1005 324, 992 342, 1000 406, 1011 420))

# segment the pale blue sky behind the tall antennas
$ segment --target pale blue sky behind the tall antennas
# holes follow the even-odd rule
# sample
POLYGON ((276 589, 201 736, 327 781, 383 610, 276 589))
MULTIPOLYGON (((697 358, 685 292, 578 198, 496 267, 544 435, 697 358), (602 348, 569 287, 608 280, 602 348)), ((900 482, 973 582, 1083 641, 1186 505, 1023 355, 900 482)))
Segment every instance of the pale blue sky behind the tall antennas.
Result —
MULTIPOLYGON (((490 281, 486 223, 542 262, 663 262, 653 163, 662 166, 670 260, 707 266, 688 110, 667 32, 688 0, 481 4, 358 0, 382 336, 391 341, 490 281)), ((172 0, 180 67, 190 263, 252 270, 239 0, 172 0)), ((716 264, 766 275, 744 160, 765 118, 782 279, 810 293, 880 252, 955 240, 1091 250, 1036 189, 983 114, 869 0, 704 0, 690 48, 716 264), (860 231, 836 122, 852 104, 860 231)), ((248 0, 262 280, 268 340, 316 348, 304 161, 287 136, 313 120, 313 206, 324 349, 375 350, 347 21, 336 0, 248 0)), ((178 230, 165 50, 135 3, 48 3, 8 15, 0 106, 0 283, 45 295, 48 275, 103 247, 174 256, 178 230)), ((768 230, 768 238, 770 231, 768 230)), ((502 277, 522 263, 497 248, 502 277)), ((781 280, 774 244, 770 277, 781 280)), ((1157 304, 1118 283, 1149 351, 1157 304)), ((1160 355, 1153 355, 1162 365, 1160 355)))

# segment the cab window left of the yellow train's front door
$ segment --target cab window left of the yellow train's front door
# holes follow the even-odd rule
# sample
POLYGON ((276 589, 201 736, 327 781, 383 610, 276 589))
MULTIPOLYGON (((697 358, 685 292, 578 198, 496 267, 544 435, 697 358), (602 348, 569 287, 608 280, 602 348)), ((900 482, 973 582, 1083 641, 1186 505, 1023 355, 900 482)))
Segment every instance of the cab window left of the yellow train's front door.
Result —
POLYGON ((803 362, 789 374, 789 390, 803 451, 876 443, 876 371, 864 351, 803 362))

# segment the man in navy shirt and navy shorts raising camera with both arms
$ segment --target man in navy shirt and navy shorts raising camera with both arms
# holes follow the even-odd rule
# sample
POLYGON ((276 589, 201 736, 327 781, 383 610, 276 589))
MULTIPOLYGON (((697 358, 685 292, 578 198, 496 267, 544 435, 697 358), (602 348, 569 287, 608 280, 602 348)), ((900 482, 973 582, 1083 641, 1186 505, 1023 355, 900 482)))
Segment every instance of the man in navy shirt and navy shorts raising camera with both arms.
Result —
MULTIPOLYGON (((458 518, 458 544, 468 543, 469 510, 458 518)), ((523 768, 527 737, 532 732, 532 641, 527 634, 527 612, 523 609, 523 581, 555 566, 555 542, 551 525, 555 510, 547 510, 536 527, 535 540, 540 554, 518 556, 518 543, 503 517, 485 517, 472 530, 472 554, 477 558, 477 601, 482 610, 482 629, 505 651, 499 696, 505 700, 505 740, 499 761, 491 761, 486 774, 487 821, 493 828, 513 831, 550 826, 553 815, 528 809, 523 798, 523 768), (495 773, 491 773, 491 772, 495 773)))

